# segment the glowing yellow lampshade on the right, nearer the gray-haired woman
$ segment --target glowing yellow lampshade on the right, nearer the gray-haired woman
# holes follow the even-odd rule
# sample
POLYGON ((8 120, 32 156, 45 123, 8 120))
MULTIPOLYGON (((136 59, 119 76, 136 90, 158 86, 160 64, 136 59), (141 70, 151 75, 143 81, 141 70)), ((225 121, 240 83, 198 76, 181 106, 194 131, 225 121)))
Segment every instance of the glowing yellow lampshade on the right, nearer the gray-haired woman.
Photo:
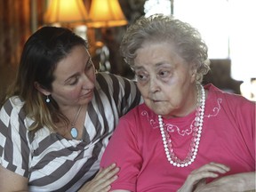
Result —
POLYGON ((109 28, 127 24, 118 0, 92 0, 88 27, 109 28))

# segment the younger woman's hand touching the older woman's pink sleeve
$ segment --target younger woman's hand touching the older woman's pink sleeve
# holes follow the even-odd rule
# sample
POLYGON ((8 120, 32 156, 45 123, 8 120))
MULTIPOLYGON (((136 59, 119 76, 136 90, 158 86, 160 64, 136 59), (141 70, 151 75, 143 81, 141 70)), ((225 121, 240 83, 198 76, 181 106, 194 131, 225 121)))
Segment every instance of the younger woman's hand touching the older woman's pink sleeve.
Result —
POLYGON ((100 171, 96 176, 84 184, 83 188, 80 188, 79 192, 107 192, 111 188, 111 183, 117 179, 116 173, 119 172, 119 168, 116 164, 111 164, 105 169, 100 168, 100 171))

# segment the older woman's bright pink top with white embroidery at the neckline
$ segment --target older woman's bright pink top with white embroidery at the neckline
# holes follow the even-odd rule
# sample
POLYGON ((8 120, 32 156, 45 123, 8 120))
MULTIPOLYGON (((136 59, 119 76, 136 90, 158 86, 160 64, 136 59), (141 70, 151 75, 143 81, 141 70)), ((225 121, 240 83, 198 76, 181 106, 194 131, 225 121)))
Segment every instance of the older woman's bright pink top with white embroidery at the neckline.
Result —
MULTIPOLYGON (((102 157, 102 167, 115 162, 121 168, 112 189, 177 191, 191 171, 210 162, 227 164, 231 168, 228 174, 255 171, 255 103, 221 92, 212 84, 204 88, 209 92, 195 162, 183 168, 168 162, 158 117, 141 104, 120 119, 102 157)), ((188 155, 194 118, 195 112, 164 119, 180 159, 188 155)))

